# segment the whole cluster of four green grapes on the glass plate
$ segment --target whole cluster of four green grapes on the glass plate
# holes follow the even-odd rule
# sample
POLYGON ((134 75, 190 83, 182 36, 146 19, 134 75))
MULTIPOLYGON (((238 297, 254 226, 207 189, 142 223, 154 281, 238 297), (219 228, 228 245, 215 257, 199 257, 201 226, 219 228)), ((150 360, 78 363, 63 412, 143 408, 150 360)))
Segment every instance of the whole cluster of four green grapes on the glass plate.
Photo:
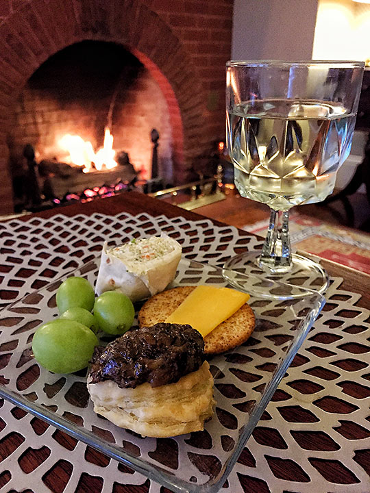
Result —
POLYGON ((135 309, 130 298, 107 291, 95 299, 93 286, 83 277, 69 277, 56 294, 60 318, 38 327, 32 351, 40 365, 55 373, 86 368, 99 344, 96 333, 121 336, 130 329, 135 309))

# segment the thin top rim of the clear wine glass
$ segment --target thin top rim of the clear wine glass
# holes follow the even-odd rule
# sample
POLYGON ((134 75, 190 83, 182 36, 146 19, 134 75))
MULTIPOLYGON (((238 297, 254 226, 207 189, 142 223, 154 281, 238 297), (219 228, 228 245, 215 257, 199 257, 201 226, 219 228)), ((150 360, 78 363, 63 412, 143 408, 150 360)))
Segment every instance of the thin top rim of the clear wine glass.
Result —
POLYGON ((226 62, 227 67, 234 66, 251 66, 251 67, 262 67, 262 66, 281 66, 281 67, 291 67, 291 66, 328 66, 328 68, 363 68, 365 62, 360 62, 356 60, 229 60, 226 62))

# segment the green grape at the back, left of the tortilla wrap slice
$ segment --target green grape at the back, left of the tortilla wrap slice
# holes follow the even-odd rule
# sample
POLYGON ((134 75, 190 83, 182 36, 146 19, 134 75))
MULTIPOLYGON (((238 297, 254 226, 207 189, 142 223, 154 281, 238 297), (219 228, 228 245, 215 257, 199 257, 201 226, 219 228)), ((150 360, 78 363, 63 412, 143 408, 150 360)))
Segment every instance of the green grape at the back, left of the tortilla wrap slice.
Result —
POLYGON ((56 294, 60 314, 73 307, 81 307, 91 312, 94 301, 93 286, 84 277, 68 277, 59 286, 56 294))

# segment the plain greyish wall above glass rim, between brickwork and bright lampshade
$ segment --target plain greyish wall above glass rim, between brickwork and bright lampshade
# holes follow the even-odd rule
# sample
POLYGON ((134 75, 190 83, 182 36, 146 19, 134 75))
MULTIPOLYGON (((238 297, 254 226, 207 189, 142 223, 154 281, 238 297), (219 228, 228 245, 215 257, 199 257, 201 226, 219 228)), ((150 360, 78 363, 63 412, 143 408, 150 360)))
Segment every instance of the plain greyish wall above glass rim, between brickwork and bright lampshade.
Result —
POLYGON ((311 60, 318 0, 234 0, 234 60, 311 60))

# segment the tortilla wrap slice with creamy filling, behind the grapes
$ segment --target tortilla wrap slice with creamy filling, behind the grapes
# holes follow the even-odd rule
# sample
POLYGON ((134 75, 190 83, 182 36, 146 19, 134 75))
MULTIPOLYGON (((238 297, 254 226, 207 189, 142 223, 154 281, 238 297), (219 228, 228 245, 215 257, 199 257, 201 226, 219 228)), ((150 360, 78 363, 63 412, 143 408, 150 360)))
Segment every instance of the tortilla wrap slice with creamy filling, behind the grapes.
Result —
POLYGON ((180 243, 169 236, 132 240, 101 251, 95 292, 120 291, 132 302, 163 291, 173 281, 180 262, 180 243))

